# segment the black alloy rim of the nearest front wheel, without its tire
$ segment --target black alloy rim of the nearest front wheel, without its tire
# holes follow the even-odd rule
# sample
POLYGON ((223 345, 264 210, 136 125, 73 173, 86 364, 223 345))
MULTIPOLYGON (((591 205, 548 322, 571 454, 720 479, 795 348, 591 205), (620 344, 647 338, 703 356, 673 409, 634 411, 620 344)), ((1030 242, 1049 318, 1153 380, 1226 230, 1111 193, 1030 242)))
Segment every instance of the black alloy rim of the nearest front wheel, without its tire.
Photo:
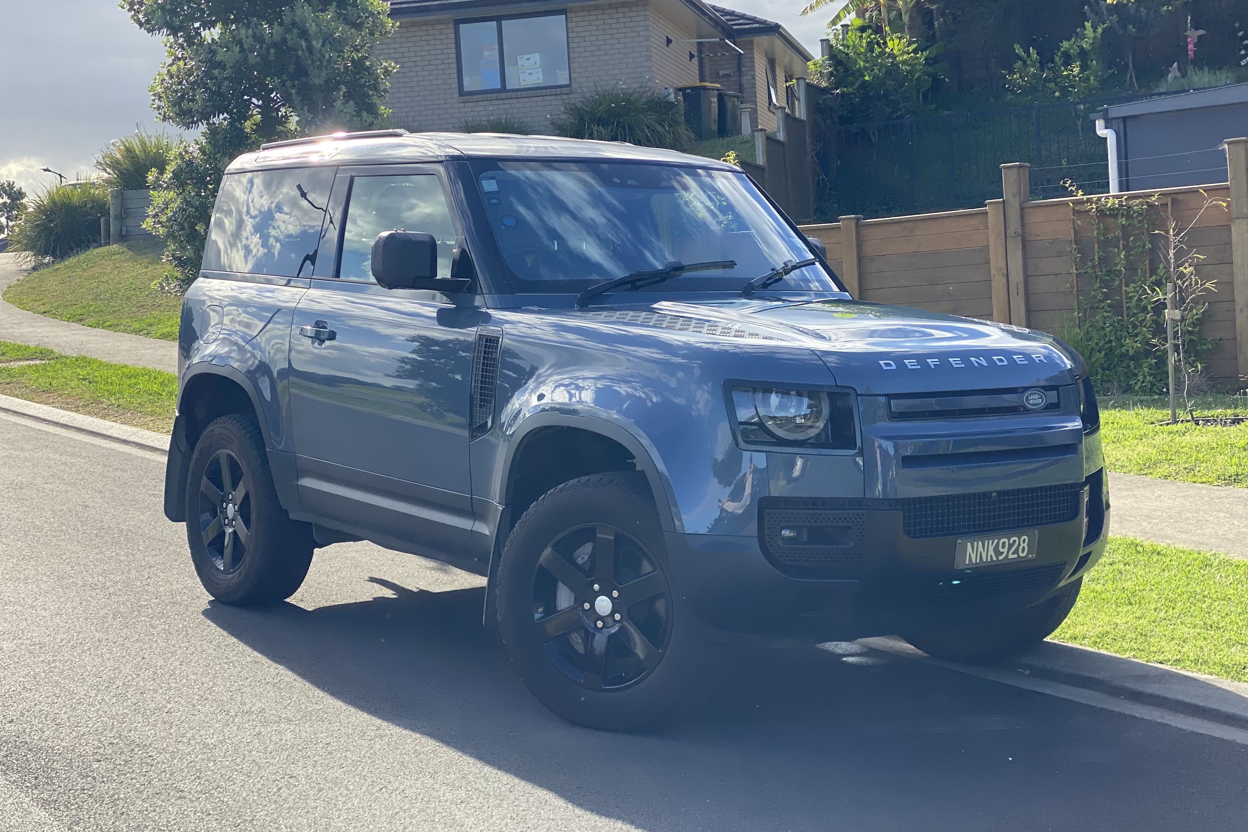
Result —
POLYGON ((659 666, 671 633, 671 590, 639 540, 609 525, 578 526, 538 558, 533 626, 568 678, 618 691, 659 666))

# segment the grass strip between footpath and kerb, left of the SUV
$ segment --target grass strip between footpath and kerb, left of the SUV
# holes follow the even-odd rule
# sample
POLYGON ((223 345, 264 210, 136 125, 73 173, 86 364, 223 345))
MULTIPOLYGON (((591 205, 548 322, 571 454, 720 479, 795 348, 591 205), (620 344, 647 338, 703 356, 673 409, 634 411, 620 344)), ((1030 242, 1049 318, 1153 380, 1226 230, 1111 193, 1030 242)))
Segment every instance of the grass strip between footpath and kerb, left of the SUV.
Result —
POLYGON ((177 377, 0 341, 0 394, 168 433, 177 377), (12 364, 14 361, 40 364, 12 364))

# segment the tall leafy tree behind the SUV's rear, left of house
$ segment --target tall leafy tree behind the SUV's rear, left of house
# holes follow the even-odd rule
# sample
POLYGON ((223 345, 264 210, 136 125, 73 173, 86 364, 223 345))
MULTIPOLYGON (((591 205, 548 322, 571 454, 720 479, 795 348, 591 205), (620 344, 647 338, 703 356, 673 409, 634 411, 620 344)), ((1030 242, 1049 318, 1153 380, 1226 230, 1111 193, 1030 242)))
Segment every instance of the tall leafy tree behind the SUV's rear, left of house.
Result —
POLYGON ((149 227, 180 287, 198 274, 226 165, 265 141, 384 126, 388 79, 373 56, 396 27, 382 0, 122 0, 165 39, 150 87, 162 121, 203 127, 156 179, 149 227))

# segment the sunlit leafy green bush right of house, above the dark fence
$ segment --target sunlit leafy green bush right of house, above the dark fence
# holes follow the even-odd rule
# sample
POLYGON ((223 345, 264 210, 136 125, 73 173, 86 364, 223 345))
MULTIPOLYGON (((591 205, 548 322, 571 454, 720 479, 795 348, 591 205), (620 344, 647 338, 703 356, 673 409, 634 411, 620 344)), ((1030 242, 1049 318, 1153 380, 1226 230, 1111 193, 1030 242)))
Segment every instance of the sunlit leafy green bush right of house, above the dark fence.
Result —
POLYGON ((810 62, 811 81, 832 91, 820 96, 820 115, 829 124, 917 115, 940 69, 927 56, 917 41, 880 35, 865 20, 855 20, 831 41, 827 57, 810 62))

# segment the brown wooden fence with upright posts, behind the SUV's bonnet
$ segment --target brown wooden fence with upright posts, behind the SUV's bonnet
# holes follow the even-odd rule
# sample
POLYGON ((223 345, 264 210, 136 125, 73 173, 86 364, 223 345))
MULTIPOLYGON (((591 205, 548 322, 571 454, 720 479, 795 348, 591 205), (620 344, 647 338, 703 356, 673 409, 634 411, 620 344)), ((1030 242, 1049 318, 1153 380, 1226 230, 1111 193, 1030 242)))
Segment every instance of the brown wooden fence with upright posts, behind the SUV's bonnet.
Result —
MULTIPOLYGON (((1248 139, 1231 139, 1224 185, 1138 191, 1157 195, 1187 245, 1204 259, 1197 274, 1216 281, 1202 335, 1219 339, 1206 359, 1219 382, 1248 376, 1248 139), (1203 191, 1203 194, 1202 194, 1203 191), (1223 200, 1201 212, 1207 199, 1223 200), (1197 219, 1197 215, 1199 217, 1197 219)), ((1052 332, 1075 315, 1072 241, 1091 245, 1077 222, 1092 199, 1028 201, 1028 166, 1002 165, 1002 199, 982 209, 880 220, 842 216, 802 230, 824 241, 830 265, 855 297, 965 315, 1052 332)))

